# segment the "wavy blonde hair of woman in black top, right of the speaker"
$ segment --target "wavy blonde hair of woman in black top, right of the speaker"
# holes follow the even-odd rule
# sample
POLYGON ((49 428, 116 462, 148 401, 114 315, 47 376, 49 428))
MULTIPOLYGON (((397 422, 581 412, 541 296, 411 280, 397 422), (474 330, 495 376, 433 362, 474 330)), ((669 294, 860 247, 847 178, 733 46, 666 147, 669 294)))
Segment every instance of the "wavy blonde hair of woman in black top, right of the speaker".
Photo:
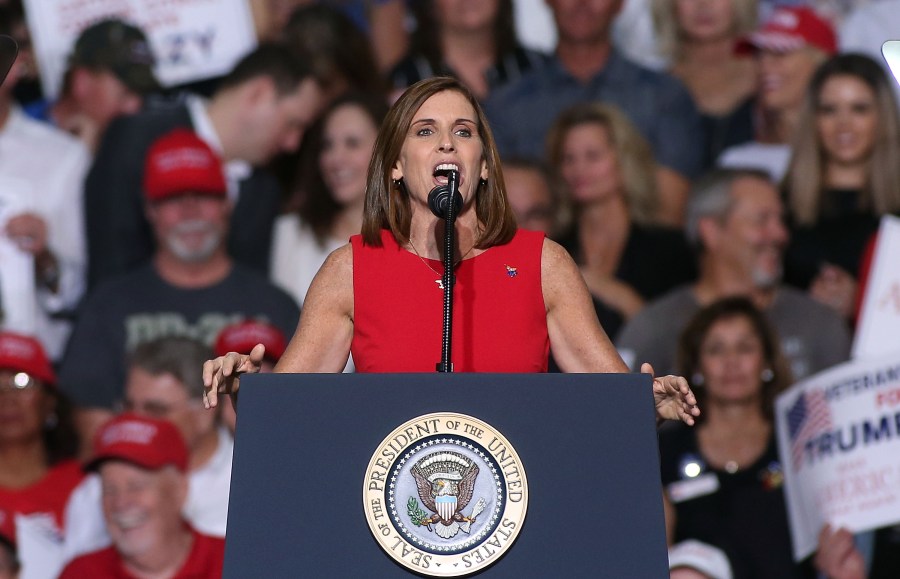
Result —
MULTIPOLYGON (((615 106, 583 102, 567 108, 556 117, 547 132, 547 162, 553 170, 554 179, 562 181, 560 167, 566 137, 572 129, 583 125, 598 125, 606 131, 609 144, 616 153, 625 205, 631 218, 642 225, 656 221, 659 195, 653 149, 625 113, 615 106)), ((561 189, 569 203, 568 189, 564 186, 561 189)))

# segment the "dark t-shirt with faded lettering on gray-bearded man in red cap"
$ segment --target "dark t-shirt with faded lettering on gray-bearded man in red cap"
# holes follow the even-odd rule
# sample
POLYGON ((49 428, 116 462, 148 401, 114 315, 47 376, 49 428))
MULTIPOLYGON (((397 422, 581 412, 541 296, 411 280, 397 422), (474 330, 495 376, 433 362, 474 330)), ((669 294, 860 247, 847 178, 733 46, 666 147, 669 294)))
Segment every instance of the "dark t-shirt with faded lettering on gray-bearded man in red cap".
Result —
POLYGON ((300 308, 265 277, 235 264, 219 283, 184 289, 164 281, 152 265, 102 282, 79 311, 59 374, 60 387, 79 406, 112 408, 122 398, 126 357, 139 344, 181 336, 212 345, 234 322, 271 322, 290 338, 300 308))

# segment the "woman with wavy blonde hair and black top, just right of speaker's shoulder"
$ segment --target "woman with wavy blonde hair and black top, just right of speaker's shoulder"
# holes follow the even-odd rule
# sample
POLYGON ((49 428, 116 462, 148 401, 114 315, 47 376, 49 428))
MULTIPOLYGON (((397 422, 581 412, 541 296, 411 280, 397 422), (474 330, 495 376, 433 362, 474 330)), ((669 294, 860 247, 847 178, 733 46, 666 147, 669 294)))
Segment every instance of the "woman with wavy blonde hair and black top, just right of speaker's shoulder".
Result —
POLYGON ((682 233, 656 225, 650 146, 621 111, 599 103, 563 111, 548 134, 547 153, 573 206, 573 227, 563 245, 619 324, 645 300, 693 279, 694 260, 682 233))

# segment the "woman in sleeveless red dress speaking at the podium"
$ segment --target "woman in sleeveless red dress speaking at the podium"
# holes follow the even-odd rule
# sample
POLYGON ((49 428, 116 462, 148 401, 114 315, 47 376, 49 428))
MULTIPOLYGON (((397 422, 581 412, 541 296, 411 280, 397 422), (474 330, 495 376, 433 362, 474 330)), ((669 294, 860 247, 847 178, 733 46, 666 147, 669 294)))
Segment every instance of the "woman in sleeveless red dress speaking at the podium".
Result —
MULTIPOLYGON (((528 119, 522 119, 528 122, 528 119)), ((627 372, 597 321, 568 253, 517 230, 500 158, 478 101, 459 81, 410 87, 379 131, 369 164, 362 233, 334 251, 310 286, 276 372, 433 372, 441 353, 444 220, 429 207, 450 172, 462 198, 454 248, 453 369, 543 372, 549 349, 566 372, 627 372)), ((264 348, 203 368, 204 403, 236 392, 264 348)), ((644 372, 651 372, 644 365, 644 372)), ((693 423, 681 377, 653 380, 657 419, 693 423)))

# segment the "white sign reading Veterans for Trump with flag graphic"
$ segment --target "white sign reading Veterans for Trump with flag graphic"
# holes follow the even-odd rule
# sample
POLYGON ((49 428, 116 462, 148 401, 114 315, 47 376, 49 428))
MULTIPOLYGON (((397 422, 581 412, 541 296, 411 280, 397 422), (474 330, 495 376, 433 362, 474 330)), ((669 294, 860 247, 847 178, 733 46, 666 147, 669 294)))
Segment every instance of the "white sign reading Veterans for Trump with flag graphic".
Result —
POLYGON ((775 412, 797 560, 826 523, 859 532, 900 522, 900 354, 811 376, 775 412))

